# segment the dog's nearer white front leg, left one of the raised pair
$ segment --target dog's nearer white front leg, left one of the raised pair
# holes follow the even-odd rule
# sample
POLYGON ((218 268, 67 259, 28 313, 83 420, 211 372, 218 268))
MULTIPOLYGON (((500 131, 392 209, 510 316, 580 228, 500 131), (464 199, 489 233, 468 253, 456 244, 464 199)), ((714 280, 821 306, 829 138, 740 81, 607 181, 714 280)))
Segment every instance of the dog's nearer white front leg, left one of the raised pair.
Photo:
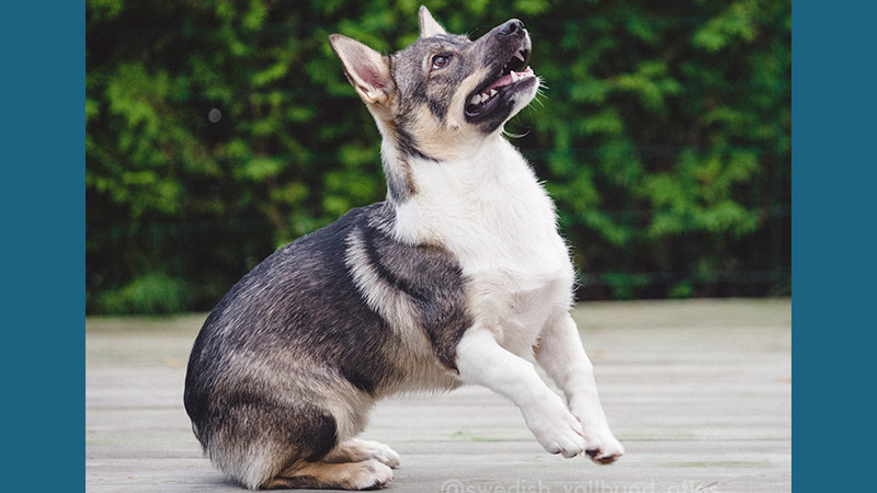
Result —
POLYGON ((456 363, 463 381, 511 399, 546 450, 567 458, 584 451, 581 424, 562 399, 545 385, 529 362, 500 346, 493 333, 468 330, 457 345, 456 363))

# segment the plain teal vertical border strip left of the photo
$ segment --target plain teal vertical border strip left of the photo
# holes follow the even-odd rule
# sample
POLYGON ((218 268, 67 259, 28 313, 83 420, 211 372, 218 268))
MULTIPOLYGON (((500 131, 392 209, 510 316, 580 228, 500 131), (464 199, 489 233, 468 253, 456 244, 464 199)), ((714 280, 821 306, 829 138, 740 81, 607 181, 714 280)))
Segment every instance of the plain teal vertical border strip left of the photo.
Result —
POLYGON ((84 2, 1 18, 3 490, 84 490, 84 2))

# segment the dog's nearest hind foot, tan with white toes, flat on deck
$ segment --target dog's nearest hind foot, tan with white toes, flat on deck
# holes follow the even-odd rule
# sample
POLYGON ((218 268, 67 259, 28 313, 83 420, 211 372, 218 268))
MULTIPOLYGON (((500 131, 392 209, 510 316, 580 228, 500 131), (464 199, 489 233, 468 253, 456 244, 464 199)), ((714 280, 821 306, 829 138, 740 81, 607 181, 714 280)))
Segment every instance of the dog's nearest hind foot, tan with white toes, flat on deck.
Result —
POLYGON ((298 462, 262 484, 266 490, 377 490, 392 481, 392 470, 376 459, 358 462, 298 462))

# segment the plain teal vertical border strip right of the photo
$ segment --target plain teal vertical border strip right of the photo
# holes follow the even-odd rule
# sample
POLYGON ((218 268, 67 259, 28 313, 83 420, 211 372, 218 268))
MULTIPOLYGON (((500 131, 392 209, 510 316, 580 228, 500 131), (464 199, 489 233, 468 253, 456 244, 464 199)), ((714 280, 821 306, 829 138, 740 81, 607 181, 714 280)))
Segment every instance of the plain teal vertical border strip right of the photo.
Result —
POLYGON ((793 3, 793 491, 868 488, 874 7, 793 3), (864 394, 863 394, 864 393, 864 394), (866 448, 867 447, 867 448, 866 448))

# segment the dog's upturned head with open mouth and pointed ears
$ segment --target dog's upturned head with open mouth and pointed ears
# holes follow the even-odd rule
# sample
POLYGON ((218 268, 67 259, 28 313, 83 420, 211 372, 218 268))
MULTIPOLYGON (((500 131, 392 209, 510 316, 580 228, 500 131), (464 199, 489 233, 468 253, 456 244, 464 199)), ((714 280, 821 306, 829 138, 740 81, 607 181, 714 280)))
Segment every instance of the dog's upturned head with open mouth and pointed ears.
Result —
POLYGON ((454 159, 493 135, 536 95, 531 41, 513 19, 472 42, 420 8, 420 37, 384 56, 333 34, 332 49, 385 139, 402 154, 454 159))

